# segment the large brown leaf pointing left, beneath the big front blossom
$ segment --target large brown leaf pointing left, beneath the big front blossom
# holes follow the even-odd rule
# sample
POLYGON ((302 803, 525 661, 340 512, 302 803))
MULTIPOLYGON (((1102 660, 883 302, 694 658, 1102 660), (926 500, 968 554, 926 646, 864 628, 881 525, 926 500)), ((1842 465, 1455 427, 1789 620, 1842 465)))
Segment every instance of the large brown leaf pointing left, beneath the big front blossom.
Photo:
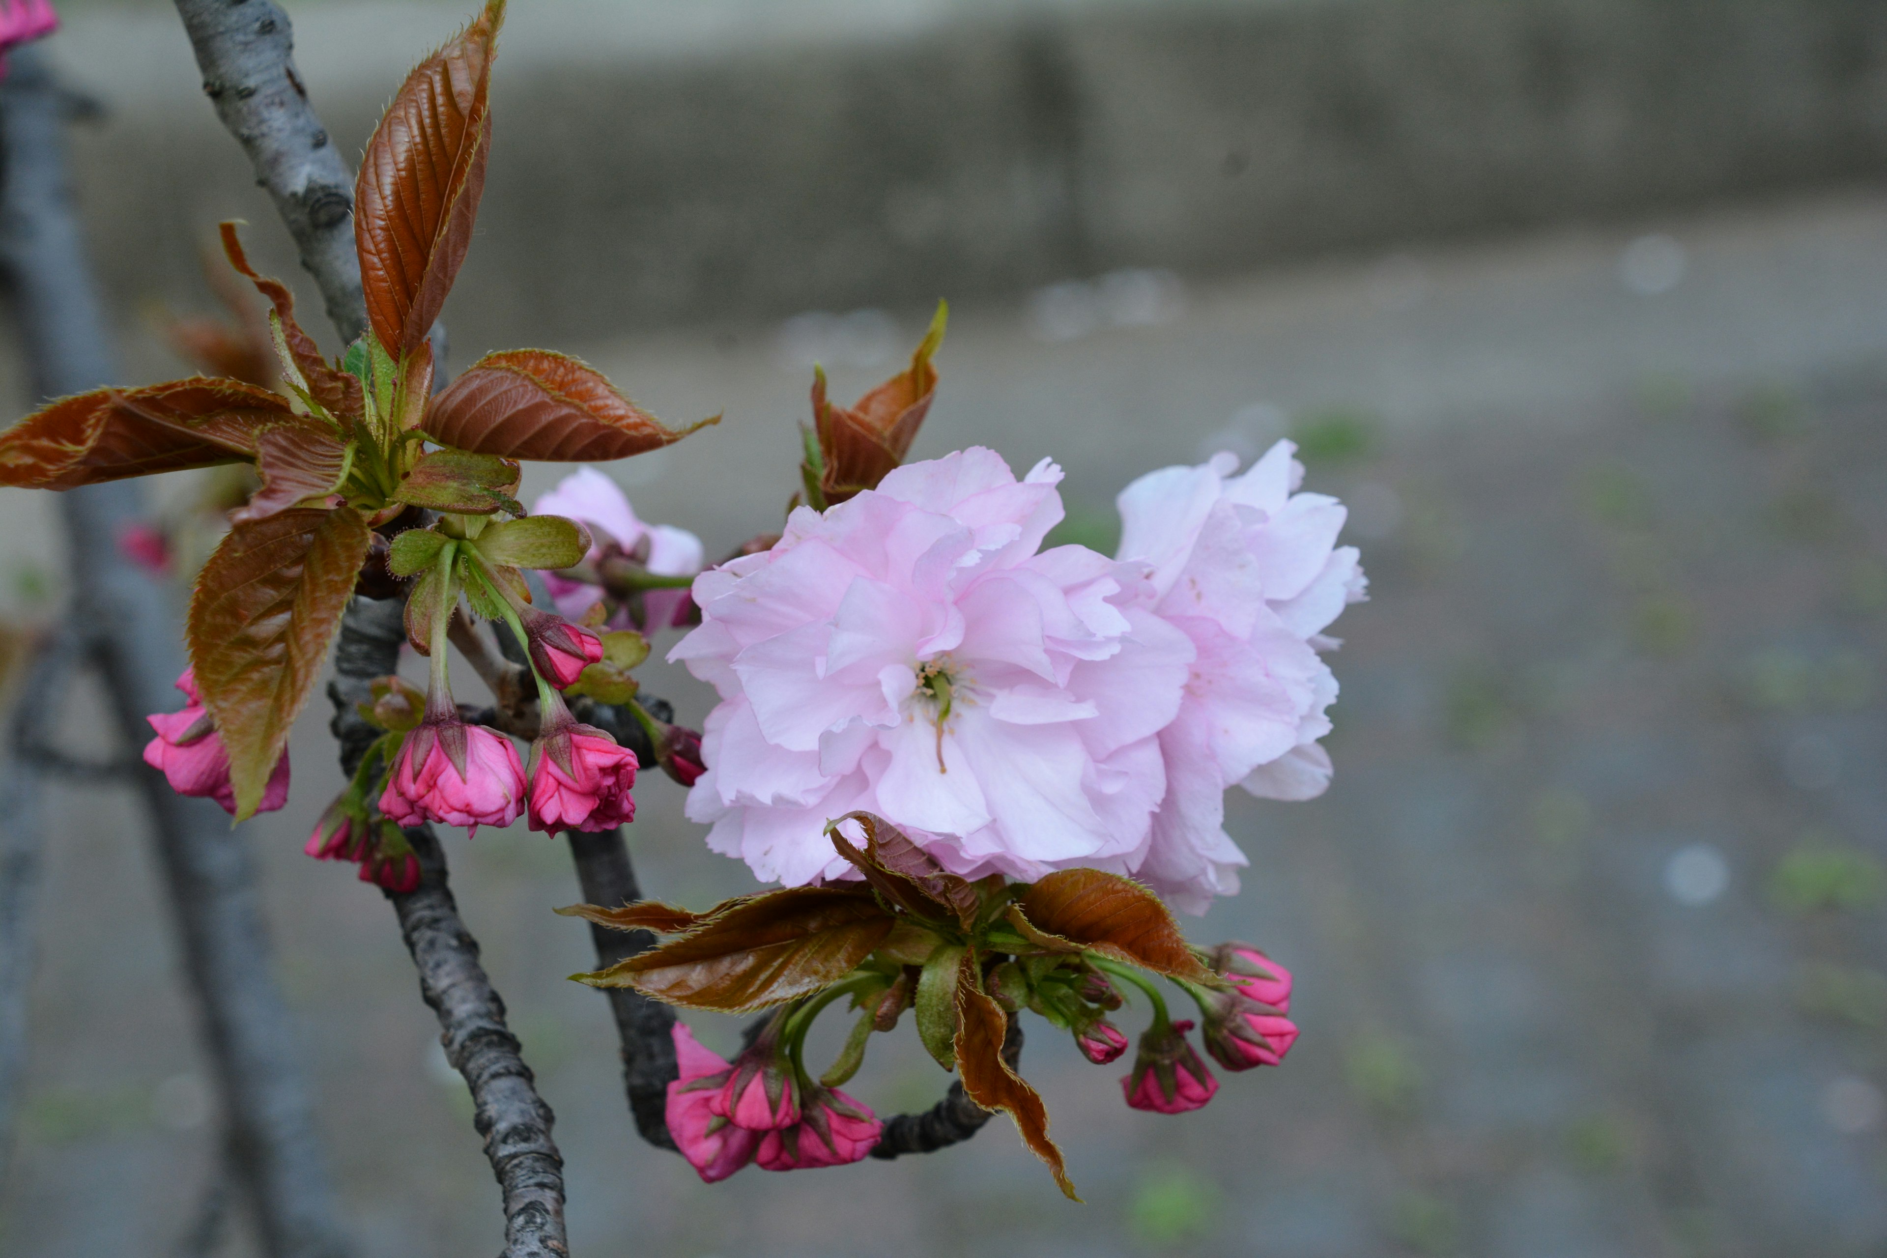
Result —
POLYGON ((872 954, 893 917, 862 886, 789 886, 715 913, 689 934, 572 975, 689 1009, 745 1013, 817 992, 872 954))

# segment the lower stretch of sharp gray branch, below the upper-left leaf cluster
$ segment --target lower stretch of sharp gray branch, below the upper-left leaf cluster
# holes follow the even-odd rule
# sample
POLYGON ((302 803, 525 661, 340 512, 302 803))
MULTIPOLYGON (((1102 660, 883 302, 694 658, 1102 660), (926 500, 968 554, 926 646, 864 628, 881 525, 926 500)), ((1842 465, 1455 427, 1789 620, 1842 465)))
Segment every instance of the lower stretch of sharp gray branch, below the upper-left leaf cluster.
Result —
MULTIPOLYGON (((359 711, 376 677, 398 670, 406 641, 400 600, 355 598, 342 617, 334 654, 338 677, 334 737, 342 770, 353 773, 379 736, 359 711)), ((428 826, 406 832, 419 856, 419 888, 387 892, 400 919, 400 937, 419 969, 419 994, 440 1018, 440 1043, 472 1090, 474 1124, 504 1192, 506 1258, 564 1256, 564 1160, 551 1139, 555 1117, 538 1096, 517 1037, 504 1018, 504 1000, 479 964, 477 939, 459 917, 445 881, 445 854, 428 826)))

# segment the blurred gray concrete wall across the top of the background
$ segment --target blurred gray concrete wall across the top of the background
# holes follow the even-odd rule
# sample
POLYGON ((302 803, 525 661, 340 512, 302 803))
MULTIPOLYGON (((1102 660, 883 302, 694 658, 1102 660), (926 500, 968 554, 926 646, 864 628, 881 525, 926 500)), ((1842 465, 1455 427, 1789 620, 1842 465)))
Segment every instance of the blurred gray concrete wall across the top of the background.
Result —
MULTIPOLYGON (((338 141, 460 8, 296 13, 338 141)), ((1215 273, 1887 158, 1879 0, 677 8, 513 6, 459 349, 1215 273)), ((111 109, 79 181, 119 296, 198 290, 189 245, 232 213, 268 253, 168 15, 75 23, 64 57, 111 109)))

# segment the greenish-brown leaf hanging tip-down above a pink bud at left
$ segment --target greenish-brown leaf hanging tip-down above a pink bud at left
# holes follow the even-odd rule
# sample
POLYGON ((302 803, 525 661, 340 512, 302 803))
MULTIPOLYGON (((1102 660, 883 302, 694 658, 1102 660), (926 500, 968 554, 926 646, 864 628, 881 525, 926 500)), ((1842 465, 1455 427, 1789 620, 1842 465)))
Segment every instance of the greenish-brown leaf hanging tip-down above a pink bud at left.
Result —
POLYGON ((232 528, 196 577, 191 664, 230 754, 236 820, 260 803, 321 677, 366 547, 351 507, 291 509, 232 528))

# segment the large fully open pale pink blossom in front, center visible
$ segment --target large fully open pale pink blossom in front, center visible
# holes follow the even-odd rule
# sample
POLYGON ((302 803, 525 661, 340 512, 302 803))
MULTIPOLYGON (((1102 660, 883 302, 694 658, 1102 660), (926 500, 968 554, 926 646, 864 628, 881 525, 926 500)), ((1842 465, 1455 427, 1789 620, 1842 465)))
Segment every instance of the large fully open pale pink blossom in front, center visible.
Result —
POLYGON ((1136 868, 1193 645, 1138 605, 1144 566, 1038 553, 1059 481, 987 449, 906 464, 696 577, 670 658, 721 694, 689 792, 710 847, 842 877, 825 826, 864 809, 970 877, 1136 868))

